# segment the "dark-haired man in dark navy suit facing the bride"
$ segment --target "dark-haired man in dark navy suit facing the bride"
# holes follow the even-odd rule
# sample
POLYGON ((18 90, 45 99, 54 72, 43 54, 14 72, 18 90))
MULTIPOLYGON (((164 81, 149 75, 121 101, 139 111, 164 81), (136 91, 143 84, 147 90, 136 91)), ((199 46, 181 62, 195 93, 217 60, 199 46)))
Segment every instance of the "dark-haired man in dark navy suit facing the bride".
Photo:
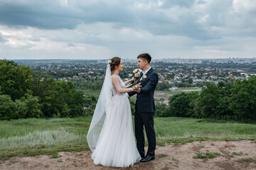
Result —
POLYGON ((151 56, 143 53, 137 57, 139 69, 142 73, 139 75, 137 84, 140 83, 141 87, 134 86, 135 91, 129 92, 129 96, 137 94, 134 124, 135 124, 135 137, 137 140, 137 149, 142 157, 140 162, 149 162, 154 159, 156 149, 156 135, 154 132, 154 114, 156 111, 154 105, 154 91, 156 84, 158 84, 159 77, 154 69, 150 66, 151 56), (149 142, 149 148, 146 153, 144 151, 144 127, 146 129, 146 137, 149 142))

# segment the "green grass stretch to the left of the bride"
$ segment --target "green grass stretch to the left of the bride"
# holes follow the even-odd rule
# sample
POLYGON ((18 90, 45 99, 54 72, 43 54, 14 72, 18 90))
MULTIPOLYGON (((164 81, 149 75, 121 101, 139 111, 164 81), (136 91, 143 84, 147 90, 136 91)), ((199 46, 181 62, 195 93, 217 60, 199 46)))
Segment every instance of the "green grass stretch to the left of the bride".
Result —
POLYGON ((90 121, 91 118, 2 120, 0 160, 89 149, 86 135, 90 121))

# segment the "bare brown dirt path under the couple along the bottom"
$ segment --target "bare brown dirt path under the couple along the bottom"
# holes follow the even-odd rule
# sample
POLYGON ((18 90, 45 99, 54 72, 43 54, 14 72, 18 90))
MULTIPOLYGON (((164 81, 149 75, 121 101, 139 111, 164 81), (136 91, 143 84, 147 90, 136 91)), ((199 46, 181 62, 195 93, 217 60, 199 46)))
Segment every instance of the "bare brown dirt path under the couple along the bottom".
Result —
MULTIPOLYGON (((59 152, 61 157, 52 159, 48 155, 36 157, 11 157, 0 162, 0 169, 122 169, 95 165, 90 159, 92 152, 59 152)), ((255 141, 231 142, 191 142, 185 145, 157 146, 156 159, 147 163, 137 163, 127 169, 255 169, 255 141), (220 156, 213 159, 194 159, 197 152, 218 152, 220 156), (240 155, 232 155, 235 154, 240 155), (234 154, 234 153, 233 153, 234 154), (252 161, 253 160, 253 161, 252 161), (252 161, 252 162, 250 162, 252 161)))

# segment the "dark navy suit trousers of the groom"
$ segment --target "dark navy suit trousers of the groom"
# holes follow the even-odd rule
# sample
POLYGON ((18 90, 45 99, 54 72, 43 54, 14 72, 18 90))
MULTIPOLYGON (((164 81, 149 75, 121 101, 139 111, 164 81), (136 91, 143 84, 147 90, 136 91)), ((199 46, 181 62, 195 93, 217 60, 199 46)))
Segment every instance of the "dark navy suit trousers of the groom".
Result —
POLYGON ((135 125, 135 137, 137 140, 137 149, 141 156, 144 156, 144 127, 146 130, 146 138, 149 142, 149 148, 146 155, 154 156, 156 149, 156 134, 154 132, 154 112, 145 113, 137 112, 134 113, 134 125, 135 125))

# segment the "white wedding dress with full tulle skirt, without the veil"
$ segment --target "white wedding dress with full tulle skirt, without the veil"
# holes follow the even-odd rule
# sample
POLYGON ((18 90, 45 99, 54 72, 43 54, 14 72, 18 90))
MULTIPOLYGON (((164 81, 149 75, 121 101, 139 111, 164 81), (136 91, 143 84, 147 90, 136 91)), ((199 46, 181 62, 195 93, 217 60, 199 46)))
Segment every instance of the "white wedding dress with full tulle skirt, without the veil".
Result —
MULTIPOLYGON (((125 88, 122 79, 117 77, 122 88, 125 88)), ((114 86, 112 93, 92 159, 95 164, 103 166, 128 167, 141 159, 134 140, 131 107, 126 94, 119 94, 114 86)))

